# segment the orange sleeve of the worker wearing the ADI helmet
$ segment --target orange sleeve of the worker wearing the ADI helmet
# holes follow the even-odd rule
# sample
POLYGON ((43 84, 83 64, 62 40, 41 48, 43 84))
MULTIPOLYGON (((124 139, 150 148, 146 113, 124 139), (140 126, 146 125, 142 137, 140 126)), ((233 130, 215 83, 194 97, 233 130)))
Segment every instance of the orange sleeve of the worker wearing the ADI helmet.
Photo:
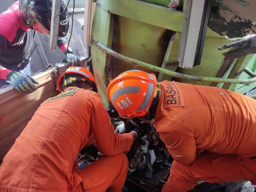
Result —
POLYGON ((177 130, 157 130, 167 150, 176 161, 189 165, 196 158, 196 143, 194 137, 177 130))

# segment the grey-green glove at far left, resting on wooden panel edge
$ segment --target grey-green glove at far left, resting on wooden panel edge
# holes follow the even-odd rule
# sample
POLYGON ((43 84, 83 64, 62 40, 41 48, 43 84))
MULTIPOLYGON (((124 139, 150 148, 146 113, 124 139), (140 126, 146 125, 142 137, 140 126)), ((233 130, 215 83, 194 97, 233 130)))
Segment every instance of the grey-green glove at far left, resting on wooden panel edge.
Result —
POLYGON ((12 71, 7 74, 6 78, 12 83, 13 87, 20 93, 32 93, 37 90, 34 83, 39 84, 37 80, 29 75, 22 74, 17 71, 12 71))

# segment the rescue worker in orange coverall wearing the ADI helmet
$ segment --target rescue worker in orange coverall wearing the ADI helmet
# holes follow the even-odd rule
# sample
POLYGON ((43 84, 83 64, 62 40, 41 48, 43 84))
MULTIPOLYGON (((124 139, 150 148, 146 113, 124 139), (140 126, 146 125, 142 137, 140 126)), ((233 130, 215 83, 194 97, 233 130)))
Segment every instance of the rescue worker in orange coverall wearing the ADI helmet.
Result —
POLYGON ((154 124, 174 161, 163 192, 199 180, 256 184, 256 100, 218 87, 163 81, 140 70, 113 79, 107 96, 123 118, 154 124))

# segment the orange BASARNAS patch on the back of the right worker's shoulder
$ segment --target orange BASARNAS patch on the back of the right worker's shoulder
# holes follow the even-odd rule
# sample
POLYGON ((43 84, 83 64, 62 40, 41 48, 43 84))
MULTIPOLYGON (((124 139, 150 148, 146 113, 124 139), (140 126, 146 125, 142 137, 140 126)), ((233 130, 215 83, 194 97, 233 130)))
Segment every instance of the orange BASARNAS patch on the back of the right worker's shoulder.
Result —
POLYGON ((165 81, 161 84, 164 87, 164 108, 185 106, 183 94, 174 81, 165 81))

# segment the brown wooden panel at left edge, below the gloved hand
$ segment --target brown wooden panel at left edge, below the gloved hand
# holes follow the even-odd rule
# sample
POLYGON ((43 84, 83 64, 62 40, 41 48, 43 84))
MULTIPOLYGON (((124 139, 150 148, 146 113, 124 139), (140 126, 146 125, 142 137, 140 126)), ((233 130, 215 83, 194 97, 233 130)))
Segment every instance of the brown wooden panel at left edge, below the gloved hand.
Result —
POLYGON ((39 82, 38 90, 30 94, 20 94, 9 86, 0 92, 0 163, 3 157, 14 144, 37 108, 49 97, 58 93, 54 75, 51 74, 53 67, 46 72, 37 75, 39 82), (50 72, 50 74, 49 74, 50 72), (3 110, 4 109, 4 110, 3 110))

